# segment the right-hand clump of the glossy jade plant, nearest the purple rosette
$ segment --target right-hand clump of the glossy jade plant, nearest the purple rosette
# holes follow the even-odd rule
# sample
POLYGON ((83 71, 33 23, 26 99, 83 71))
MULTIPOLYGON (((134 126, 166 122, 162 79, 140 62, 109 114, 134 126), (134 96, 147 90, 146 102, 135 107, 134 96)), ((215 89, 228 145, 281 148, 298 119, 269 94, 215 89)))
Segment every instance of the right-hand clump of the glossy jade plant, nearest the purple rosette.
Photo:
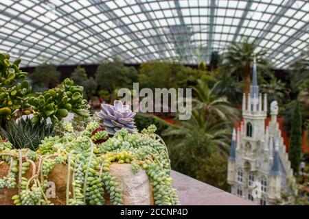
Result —
POLYGON ((61 88, 32 95, 29 99, 34 112, 32 123, 38 123, 41 118, 51 118, 52 121, 61 120, 67 117, 69 112, 74 112, 78 116, 89 116, 88 102, 82 99, 83 88, 73 84, 73 81, 67 78, 62 82, 61 88))

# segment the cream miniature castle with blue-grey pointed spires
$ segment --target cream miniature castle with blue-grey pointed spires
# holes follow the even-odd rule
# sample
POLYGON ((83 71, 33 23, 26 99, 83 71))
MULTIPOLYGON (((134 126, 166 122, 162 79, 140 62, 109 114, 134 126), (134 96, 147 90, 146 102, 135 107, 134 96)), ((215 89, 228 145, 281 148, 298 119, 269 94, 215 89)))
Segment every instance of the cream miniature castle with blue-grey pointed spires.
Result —
POLYGON ((231 193, 260 205, 274 205, 282 191, 295 193, 293 170, 277 123, 277 101, 267 117, 267 96, 259 92, 254 57, 251 93, 242 97, 242 122, 233 129, 227 182, 231 193))

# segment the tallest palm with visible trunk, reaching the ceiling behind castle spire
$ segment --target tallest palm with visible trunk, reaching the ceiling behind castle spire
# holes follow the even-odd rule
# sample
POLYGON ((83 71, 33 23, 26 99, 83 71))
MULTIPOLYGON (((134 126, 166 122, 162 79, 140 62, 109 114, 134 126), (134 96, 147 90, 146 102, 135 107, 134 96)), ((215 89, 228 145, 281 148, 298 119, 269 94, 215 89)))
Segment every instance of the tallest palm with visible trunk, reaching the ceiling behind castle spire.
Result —
POLYGON ((269 68, 268 60, 262 58, 265 51, 259 51, 254 53, 256 45, 249 40, 243 42, 231 42, 227 48, 225 54, 223 66, 228 70, 231 75, 235 75, 238 80, 240 77, 244 81, 243 92, 248 94, 250 92, 251 85, 251 63, 253 62, 253 56, 257 58, 257 63, 260 69, 269 68))

